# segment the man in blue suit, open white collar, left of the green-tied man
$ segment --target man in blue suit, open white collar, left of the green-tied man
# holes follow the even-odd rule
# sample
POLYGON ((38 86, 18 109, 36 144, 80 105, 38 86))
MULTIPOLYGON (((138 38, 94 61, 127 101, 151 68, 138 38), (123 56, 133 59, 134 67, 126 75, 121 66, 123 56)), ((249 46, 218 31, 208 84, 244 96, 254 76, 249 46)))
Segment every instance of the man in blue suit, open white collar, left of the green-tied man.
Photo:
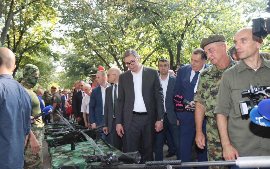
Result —
MULTIPOLYGON (((103 125, 104 104, 105 104, 105 89, 110 86, 107 82, 107 73, 104 70, 100 70, 96 75, 97 87, 92 89, 91 98, 89 102, 89 118, 92 128, 103 125)), ((102 132, 99 134, 103 140, 106 139, 106 135, 102 132)), ((109 137, 110 142, 110 137, 109 137)))

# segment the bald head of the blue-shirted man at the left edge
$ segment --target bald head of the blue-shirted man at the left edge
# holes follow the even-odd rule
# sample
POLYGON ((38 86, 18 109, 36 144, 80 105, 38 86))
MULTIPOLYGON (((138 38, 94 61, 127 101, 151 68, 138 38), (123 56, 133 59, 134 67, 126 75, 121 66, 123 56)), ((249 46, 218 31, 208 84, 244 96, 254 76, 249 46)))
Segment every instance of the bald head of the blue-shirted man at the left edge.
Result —
POLYGON ((0 74, 11 74, 15 69, 15 55, 13 52, 8 49, 1 47, 0 48, 0 74))

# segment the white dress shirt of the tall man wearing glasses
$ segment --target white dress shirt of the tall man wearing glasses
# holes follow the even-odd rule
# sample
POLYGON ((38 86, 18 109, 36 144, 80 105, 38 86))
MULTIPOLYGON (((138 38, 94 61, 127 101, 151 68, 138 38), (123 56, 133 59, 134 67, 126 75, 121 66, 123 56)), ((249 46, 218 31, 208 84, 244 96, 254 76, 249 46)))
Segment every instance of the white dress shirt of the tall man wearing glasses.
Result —
POLYGON ((133 84, 134 84, 134 108, 133 111, 137 112, 146 112, 146 107, 143 101, 143 95, 141 93, 141 82, 143 79, 143 66, 141 67, 141 70, 136 74, 131 71, 132 77, 133 77, 133 84))

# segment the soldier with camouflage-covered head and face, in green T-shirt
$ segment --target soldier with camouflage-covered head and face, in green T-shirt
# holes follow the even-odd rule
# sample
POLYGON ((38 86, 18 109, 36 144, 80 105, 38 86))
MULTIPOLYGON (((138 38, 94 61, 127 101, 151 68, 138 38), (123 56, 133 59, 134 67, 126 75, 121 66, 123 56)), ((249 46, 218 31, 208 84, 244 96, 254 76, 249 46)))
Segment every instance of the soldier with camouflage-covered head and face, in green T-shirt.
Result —
MULTIPOLYGON (((32 99, 31 116, 41 113, 39 99, 33 92, 32 88, 39 80, 39 69, 35 65, 26 64, 23 69, 23 78, 21 85, 28 91, 32 99)), ((25 160, 23 168, 39 169, 43 168, 42 142, 43 142, 43 127, 42 117, 40 116, 31 123, 31 131, 25 140, 25 160)))

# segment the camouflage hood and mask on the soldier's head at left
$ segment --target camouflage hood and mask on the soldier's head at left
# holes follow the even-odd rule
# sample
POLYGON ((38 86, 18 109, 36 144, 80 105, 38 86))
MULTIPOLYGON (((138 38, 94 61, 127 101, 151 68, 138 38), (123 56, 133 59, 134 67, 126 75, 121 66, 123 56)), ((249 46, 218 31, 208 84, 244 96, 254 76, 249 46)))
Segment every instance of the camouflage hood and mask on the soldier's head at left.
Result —
POLYGON ((33 88, 39 80, 38 77, 34 77, 36 74, 39 74, 38 67, 32 64, 26 64, 23 69, 23 78, 21 84, 29 88, 33 88))

